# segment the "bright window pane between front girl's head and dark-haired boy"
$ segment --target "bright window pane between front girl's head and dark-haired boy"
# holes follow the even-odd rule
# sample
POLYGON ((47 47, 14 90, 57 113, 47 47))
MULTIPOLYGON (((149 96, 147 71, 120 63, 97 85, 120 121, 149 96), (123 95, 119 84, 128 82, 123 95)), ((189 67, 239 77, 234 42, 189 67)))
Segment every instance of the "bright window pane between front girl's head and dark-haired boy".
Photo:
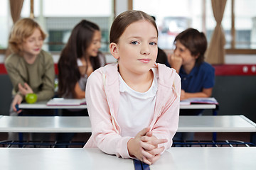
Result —
POLYGON ((134 0, 133 8, 156 18, 159 28, 158 45, 169 50, 174 38, 188 27, 202 30, 201 0, 134 0))

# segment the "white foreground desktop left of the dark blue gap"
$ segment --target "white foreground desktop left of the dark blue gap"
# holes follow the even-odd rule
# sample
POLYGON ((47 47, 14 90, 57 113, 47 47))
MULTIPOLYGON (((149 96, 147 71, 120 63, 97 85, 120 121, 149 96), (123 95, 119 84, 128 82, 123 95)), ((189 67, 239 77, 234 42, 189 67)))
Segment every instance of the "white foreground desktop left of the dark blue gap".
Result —
POLYGON ((100 149, 0 148, 1 169, 134 169, 132 159, 108 155, 100 149))

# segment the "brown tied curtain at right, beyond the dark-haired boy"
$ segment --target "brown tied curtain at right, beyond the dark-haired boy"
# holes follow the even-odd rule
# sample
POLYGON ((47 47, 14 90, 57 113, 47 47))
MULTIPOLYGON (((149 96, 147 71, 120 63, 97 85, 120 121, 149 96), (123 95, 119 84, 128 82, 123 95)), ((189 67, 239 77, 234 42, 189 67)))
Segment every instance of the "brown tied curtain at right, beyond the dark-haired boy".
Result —
POLYGON ((216 27, 206 51, 206 62, 210 64, 224 64, 225 57, 225 34, 221 26, 225 4, 227 0, 211 0, 213 7, 213 16, 216 21, 216 27))

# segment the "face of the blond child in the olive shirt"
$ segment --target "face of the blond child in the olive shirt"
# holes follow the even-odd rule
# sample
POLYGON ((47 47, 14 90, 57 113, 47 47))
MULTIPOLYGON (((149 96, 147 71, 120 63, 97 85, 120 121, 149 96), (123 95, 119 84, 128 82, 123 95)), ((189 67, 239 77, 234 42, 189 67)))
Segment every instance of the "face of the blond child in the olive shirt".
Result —
POLYGON ((40 30, 36 28, 31 36, 22 43, 23 55, 36 56, 43 46, 43 38, 40 30))

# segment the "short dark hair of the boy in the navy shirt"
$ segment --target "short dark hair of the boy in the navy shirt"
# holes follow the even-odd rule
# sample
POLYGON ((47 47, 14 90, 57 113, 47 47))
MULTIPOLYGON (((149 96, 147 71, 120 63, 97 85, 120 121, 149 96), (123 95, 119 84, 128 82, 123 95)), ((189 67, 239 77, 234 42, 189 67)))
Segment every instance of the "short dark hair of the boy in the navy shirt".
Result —
POLYGON ((198 55, 196 64, 201 64, 204 61, 204 54, 207 48, 207 40, 204 33, 188 28, 176 36, 174 44, 176 44, 177 40, 191 52, 191 55, 198 55))

